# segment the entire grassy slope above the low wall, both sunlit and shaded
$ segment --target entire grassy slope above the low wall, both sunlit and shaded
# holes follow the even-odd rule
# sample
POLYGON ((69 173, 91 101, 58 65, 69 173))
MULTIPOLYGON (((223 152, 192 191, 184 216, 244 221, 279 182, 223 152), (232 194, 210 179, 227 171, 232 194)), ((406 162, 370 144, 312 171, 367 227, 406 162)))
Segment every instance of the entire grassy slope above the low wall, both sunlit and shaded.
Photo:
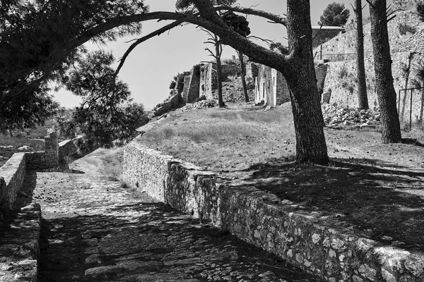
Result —
MULTIPOLYGON (((233 185, 253 185, 347 221, 360 236, 424 250, 423 147, 383 145, 381 133, 372 130, 325 128, 330 166, 294 164, 287 105, 273 111, 175 112, 143 130, 139 142, 216 171, 233 185)), ((402 135, 424 143, 418 128, 402 135)))

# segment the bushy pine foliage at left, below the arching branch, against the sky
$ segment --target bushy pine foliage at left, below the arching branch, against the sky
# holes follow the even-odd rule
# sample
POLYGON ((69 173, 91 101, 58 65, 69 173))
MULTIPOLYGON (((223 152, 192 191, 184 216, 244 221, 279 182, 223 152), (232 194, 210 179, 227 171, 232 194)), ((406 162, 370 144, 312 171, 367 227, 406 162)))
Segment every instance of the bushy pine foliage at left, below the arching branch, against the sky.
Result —
POLYGON ((143 105, 133 103, 128 85, 117 80, 112 54, 94 51, 73 62, 62 79, 66 89, 82 97, 71 118, 59 118, 66 137, 78 134, 102 147, 123 145, 134 137, 143 120, 143 105))

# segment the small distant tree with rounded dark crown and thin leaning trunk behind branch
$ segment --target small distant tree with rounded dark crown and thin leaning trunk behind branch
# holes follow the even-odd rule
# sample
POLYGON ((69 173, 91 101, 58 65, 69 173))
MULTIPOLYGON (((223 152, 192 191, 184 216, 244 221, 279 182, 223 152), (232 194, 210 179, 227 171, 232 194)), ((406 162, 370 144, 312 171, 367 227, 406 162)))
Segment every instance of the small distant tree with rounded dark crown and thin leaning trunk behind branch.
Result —
MULTIPOLYGON (((232 11, 228 11, 223 13, 223 20, 229 27, 232 28, 232 30, 235 30, 235 32, 237 32, 239 35, 242 35, 242 37, 247 37, 247 35, 250 34, 249 22, 244 16, 237 16, 232 11)), ((249 94, 247 94, 245 59, 243 58, 242 52, 237 51, 237 55, 240 61, 240 77, 242 79, 243 94, 245 94, 245 102, 247 103, 249 102, 249 94)))

